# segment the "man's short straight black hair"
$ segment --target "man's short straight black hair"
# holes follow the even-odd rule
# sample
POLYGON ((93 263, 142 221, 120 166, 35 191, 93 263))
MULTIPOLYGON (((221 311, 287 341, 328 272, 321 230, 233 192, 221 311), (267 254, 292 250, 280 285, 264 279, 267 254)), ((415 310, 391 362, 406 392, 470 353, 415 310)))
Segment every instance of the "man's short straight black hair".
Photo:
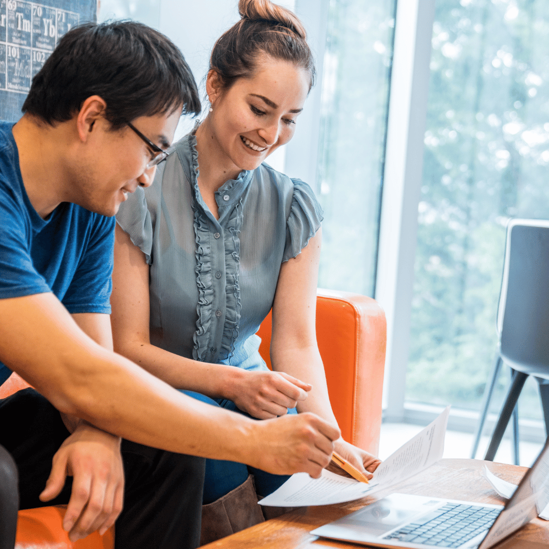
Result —
POLYGON ((66 122, 98 95, 105 118, 118 129, 138 116, 183 106, 200 113, 193 74, 163 34, 135 21, 88 23, 67 32, 32 79, 24 113, 48 124, 66 122))

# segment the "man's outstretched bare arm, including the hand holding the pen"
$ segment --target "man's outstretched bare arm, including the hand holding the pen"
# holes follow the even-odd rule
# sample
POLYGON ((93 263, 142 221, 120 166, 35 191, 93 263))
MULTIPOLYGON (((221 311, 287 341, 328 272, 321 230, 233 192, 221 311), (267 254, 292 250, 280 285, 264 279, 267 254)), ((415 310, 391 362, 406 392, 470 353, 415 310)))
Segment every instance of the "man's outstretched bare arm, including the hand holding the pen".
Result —
POLYGON ((314 414, 254 421, 178 393, 82 332, 53 294, 0 300, 0 360, 61 412, 148 446, 319 477, 339 429, 314 414))

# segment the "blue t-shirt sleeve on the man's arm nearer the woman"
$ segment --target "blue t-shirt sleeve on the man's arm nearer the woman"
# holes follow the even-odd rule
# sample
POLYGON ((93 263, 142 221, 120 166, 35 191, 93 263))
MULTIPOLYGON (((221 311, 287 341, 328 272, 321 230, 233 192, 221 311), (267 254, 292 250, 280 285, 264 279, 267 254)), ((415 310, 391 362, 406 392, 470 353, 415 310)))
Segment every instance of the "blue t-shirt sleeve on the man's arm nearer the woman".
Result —
POLYGON ((61 302, 70 313, 97 312, 110 315, 114 263, 113 217, 97 215, 86 250, 61 302))

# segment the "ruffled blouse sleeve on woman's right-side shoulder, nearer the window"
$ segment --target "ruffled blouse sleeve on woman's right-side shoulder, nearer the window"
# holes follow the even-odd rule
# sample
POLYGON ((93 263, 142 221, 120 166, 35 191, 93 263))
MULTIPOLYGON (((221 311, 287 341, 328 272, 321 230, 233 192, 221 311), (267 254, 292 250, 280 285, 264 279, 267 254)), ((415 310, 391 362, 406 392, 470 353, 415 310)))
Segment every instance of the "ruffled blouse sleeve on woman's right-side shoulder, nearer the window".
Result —
POLYGON ((310 238, 315 236, 323 220, 323 212, 315 193, 307 183, 293 179, 294 195, 286 222, 286 245, 282 262, 299 255, 310 238))

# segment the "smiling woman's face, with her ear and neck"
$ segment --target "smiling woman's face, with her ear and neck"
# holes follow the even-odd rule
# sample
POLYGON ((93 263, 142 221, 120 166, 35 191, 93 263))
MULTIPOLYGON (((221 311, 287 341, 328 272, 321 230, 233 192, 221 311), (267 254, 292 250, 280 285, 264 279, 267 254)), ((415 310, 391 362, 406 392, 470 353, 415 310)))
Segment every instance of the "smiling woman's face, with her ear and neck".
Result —
POLYGON ((208 159, 201 164, 198 186, 214 215, 214 193, 227 177, 254 170, 292 139, 310 74, 289 61, 263 55, 253 76, 238 79, 228 89, 222 82, 211 69, 206 92, 212 111, 196 132, 198 156, 208 159))

